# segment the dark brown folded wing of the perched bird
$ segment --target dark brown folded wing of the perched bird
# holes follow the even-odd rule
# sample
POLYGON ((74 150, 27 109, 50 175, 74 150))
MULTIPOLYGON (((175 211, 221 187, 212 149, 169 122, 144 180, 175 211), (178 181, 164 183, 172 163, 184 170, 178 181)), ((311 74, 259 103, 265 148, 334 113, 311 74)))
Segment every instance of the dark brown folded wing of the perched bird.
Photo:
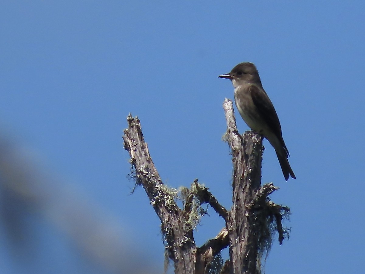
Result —
POLYGON ((250 86, 250 94, 253 103, 260 113, 261 118, 267 123, 272 132, 274 132, 274 134, 282 142, 285 150, 289 154, 282 137, 279 118, 277 117, 276 110, 270 101, 269 96, 262 88, 257 87, 256 85, 250 86))

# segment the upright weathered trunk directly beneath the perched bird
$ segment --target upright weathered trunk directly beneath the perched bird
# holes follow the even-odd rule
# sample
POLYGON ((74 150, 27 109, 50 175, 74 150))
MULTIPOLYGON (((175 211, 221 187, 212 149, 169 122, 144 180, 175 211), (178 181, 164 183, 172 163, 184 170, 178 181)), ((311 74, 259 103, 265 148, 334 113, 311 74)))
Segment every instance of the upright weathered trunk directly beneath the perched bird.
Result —
POLYGON ((233 162, 233 206, 226 223, 230 261, 232 273, 253 274, 257 269, 258 233, 249 205, 261 186, 262 138, 253 132, 237 135, 231 104, 228 100, 224 102, 233 162))

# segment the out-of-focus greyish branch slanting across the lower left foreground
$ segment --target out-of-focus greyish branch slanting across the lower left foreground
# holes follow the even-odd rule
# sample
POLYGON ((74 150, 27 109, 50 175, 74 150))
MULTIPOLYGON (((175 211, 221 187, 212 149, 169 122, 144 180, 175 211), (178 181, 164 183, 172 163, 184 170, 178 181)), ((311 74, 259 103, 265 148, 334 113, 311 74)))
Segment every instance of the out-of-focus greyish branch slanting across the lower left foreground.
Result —
MULTIPOLYGON (((138 259, 146 256, 128 243, 116 217, 89 201, 83 191, 42 170, 38 162, 34 153, 0 138, 1 217, 18 250, 32 248, 24 246, 34 238, 26 220, 38 216, 66 233, 89 262, 105 271, 157 273, 138 259)), ((39 251, 28 253, 35 252, 39 251)))

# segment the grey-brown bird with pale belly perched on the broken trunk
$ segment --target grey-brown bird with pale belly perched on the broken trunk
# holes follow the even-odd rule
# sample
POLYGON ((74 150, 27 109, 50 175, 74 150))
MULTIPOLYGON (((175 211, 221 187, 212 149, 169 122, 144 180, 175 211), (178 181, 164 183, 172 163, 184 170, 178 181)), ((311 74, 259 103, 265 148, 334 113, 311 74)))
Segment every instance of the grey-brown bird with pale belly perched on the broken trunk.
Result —
POLYGON ((241 63, 230 73, 218 77, 232 81, 234 101, 243 121, 252 130, 268 139, 274 147, 285 180, 289 179, 289 175, 295 179, 288 161, 289 151, 281 133, 279 118, 262 87, 256 66, 248 62, 241 63))

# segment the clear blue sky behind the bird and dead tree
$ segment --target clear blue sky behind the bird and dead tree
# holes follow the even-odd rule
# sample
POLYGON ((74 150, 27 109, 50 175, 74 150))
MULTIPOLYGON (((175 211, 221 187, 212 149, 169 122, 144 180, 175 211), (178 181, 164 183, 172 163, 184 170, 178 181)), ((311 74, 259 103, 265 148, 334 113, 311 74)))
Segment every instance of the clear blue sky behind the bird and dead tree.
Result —
MULTIPOLYGON (((254 62, 297 177, 285 182, 264 141, 262 182, 279 186, 271 198, 292 212, 290 240, 274 242, 266 273, 364 271, 365 2, 126 2, 2 3, 0 130, 108 212, 162 271, 160 221, 142 188, 128 195, 126 116, 141 119, 165 183, 198 178, 229 208, 222 103, 233 87, 217 76, 254 62)), ((209 213, 199 245, 224 226, 209 213)), ((92 273, 49 229, 28 265, 0 235, 2 273, 92 273)))

